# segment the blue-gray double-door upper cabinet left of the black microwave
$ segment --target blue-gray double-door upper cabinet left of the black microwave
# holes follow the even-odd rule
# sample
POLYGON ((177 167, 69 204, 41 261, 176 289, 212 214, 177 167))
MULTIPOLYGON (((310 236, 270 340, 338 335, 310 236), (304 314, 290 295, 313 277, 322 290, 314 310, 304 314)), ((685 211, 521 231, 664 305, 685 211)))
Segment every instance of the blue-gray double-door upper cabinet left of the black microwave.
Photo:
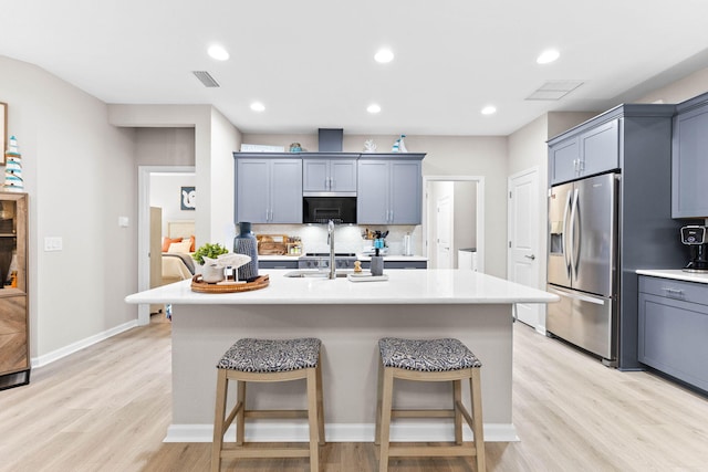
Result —
POLYGON ((302 159, 235 155, 236 221, 302 223, 302 159))

